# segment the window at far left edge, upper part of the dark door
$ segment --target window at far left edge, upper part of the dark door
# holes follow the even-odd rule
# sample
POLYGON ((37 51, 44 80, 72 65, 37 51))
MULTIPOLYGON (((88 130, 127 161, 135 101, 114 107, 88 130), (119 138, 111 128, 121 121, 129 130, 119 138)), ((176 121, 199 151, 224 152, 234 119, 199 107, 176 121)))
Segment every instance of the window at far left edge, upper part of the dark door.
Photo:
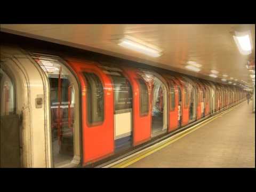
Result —
POLYGON ((1 116, 15 113, 14 84, 11 78, 0 68, 0 109, 1 116))

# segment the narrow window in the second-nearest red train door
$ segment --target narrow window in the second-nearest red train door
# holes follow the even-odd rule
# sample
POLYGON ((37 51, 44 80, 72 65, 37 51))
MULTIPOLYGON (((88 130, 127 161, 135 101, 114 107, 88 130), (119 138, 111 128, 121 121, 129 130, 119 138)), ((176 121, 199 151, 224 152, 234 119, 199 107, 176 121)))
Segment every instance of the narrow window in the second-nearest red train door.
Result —
POLYGON ((138 79, 140 87, 140 115, 148 114, 148 87, 142 79, 138 79))

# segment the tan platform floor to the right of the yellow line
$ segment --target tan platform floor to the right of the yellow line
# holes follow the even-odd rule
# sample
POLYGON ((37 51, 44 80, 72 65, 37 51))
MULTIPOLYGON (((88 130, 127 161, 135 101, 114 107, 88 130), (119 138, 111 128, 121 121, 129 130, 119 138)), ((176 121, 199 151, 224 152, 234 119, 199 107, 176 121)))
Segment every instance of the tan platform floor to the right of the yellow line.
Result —
POLYGON ((255 167, 252 101, 127 167, 255 167))

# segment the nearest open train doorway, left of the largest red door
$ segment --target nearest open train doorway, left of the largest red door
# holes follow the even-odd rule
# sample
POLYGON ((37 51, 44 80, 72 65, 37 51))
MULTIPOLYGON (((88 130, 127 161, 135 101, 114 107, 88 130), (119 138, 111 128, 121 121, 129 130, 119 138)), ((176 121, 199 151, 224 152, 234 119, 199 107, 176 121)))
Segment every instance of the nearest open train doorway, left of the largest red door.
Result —
POLYGON ((76 78, 59 59, 35 55, 33 58, 45 72, 50 85, 53 166, 73 166, 80 161, 76 78))

